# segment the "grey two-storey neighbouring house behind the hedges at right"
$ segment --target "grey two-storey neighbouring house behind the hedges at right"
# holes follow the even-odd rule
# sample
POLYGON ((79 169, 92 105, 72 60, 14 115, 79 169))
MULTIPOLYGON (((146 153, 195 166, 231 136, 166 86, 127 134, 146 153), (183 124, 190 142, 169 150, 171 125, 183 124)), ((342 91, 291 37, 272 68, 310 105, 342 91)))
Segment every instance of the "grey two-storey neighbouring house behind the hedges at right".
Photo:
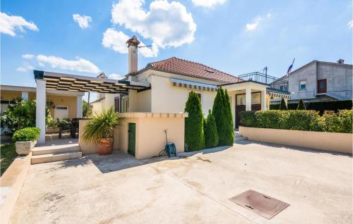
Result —
POLYGON ((289 74, 289 102, 352 99, 352 65, 311 61, 289 74))

